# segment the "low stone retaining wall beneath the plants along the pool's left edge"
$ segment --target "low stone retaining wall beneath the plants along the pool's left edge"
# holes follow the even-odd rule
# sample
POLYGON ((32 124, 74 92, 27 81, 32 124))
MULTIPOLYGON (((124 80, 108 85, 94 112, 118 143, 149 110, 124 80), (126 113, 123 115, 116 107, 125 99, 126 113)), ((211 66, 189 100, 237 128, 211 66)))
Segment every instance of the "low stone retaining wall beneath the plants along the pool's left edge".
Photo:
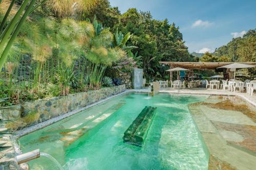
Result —
POLYGON ((5 119, 22 120, 18 128, 28 127, 85 107, 124 90, 125 85, 120 85, 28 102, 24 105, 11 106, 0 110, 0 116, 5 119))

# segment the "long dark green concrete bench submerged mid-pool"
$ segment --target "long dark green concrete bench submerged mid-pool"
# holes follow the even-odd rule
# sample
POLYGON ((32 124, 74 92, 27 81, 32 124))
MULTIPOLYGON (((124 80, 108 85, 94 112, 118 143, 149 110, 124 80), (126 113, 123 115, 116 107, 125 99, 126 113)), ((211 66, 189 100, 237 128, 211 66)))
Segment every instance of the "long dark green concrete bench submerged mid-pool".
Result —
POLYGON ((142 147, 156 113, 156 107, 146 106, 124 132, 123 142, 142 147))

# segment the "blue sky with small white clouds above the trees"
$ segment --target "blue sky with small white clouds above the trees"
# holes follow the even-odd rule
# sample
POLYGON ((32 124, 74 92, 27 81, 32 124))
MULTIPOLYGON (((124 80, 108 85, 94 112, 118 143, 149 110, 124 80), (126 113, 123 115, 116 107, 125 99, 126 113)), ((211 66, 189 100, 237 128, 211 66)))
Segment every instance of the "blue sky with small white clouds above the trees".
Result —
POLYGON ((129 8, 150 11, 180 27, 188 51, 213 52, 233 37, 256 28, 256 0, 109 0, 121 13, 129 8))

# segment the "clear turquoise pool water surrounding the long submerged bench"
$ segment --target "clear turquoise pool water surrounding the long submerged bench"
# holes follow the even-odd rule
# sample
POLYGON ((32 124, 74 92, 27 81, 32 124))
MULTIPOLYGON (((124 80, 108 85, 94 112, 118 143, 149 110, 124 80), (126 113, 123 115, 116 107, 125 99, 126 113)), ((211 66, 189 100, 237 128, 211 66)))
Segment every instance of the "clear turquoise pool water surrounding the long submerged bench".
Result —
MULTIPOLYGON (((128 93, 19 139, 23 152, 40 149, 64 169, 208 169, 208 154, 188 110, 206 95, 128 93), (123 133, 145 106, 157 107, 142 148, 123 133)), ((31 169, 58 169, 48 158, 31 169)))

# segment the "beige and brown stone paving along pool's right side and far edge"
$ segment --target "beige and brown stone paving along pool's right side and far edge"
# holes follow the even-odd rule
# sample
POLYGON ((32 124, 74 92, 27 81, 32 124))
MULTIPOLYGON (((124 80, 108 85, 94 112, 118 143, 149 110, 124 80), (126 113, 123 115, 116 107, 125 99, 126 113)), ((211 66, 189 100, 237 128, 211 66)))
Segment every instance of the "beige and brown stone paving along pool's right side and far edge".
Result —
MULTIPOLYGON (((164 88, 160 92, 178 93, 164 88)), ((212 94, 189 110, 209 152, 209 168, 256 168, 256 95, 212 89, 181 89, 180 94, 212 94), (239 96, 240 98, 238 98, 239 96)))

